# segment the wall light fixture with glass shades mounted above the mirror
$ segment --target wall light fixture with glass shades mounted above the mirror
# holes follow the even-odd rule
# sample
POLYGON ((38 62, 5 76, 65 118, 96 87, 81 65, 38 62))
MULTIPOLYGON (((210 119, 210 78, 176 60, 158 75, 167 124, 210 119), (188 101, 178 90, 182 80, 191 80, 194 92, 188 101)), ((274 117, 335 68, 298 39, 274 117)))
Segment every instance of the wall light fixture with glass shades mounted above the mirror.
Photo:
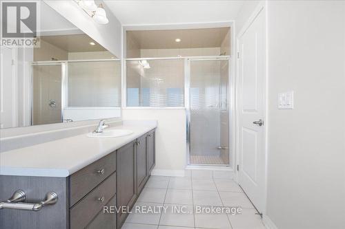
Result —
POLYGON ((78 5, 99 24, 109 22, 103 4, 96 5, 94 0, 75 0, 78 5))

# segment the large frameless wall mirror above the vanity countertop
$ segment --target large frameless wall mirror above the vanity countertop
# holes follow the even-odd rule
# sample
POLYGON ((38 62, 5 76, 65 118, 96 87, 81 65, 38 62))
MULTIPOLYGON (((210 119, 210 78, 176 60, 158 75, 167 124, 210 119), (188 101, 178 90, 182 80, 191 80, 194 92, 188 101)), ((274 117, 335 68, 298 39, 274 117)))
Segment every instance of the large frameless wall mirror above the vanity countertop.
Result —
POLYGON ((1 46, 1 128, 121 116, 121 61, 41 2, 39 47, 1 46))

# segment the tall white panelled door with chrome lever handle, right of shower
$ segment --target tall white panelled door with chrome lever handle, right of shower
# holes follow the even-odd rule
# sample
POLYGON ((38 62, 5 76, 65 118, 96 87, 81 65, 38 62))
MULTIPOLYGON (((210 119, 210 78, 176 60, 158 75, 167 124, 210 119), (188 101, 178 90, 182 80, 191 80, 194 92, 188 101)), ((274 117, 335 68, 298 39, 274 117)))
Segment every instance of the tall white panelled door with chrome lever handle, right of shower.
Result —
POLYGON ((261 10, 243 34, 239 47, 238 181, 262 212, 265 203, 265 14, 261 10))

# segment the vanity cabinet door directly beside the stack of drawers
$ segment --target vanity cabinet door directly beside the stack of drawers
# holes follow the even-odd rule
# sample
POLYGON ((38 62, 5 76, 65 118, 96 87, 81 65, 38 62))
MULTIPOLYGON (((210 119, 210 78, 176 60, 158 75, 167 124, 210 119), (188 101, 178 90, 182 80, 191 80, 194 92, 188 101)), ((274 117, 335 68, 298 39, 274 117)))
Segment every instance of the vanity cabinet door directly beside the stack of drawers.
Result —
POLYGON ((117 150, 117 228, 126 220, 126 207, 132 209, 137 198, 137 159, 135 142, 117 150), (124 212, 122 211, 124 210, 124 212))

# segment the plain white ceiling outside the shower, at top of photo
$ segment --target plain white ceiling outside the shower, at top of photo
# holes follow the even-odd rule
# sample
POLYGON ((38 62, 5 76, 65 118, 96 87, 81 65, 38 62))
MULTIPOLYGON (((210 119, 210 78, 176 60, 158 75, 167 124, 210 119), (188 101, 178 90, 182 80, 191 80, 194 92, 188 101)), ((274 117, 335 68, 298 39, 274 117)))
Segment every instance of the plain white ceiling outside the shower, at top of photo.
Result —
POLYGON ((210 23, 233 21, 244 1, 105 0, 123 25, 210 23))

